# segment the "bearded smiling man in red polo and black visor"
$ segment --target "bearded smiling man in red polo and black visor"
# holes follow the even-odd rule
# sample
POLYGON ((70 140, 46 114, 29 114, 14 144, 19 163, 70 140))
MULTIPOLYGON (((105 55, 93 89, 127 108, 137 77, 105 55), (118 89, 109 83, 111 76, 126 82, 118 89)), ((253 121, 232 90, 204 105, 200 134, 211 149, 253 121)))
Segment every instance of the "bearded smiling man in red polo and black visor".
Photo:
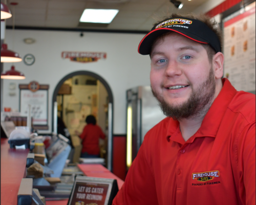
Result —
POLYGON ((113 204, 255 204, 255 95, 222 79, 215 24, 173 14, 141 40, 167 117, 145 135, 113 204))

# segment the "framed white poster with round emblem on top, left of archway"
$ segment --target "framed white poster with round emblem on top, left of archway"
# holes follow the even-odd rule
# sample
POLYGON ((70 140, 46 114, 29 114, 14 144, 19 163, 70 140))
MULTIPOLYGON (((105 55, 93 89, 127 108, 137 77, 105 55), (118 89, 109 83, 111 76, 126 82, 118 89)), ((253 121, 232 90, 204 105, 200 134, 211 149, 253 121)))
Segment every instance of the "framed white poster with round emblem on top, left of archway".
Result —
POLYGON ((32 81, 29 85, 19 85, 19 112, 28 116, 31 105, 32 125, 37 130, 48 130, 48 85, 32 81))

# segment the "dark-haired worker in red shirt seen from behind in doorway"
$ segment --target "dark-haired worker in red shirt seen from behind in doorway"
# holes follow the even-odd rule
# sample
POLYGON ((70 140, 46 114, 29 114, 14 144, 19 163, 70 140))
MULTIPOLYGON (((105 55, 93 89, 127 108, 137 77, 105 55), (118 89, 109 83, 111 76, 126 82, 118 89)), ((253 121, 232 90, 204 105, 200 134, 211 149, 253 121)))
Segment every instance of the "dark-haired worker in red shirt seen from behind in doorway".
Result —
POLYGON ((86 117, 87 125, 84 126, 83 131, 76 134, 82 140, 82 158, 97 158, 99 154, 99 138, 104 139, 105 134, 102 132, 101 128, 96 125, 96 119, 93 115, 88 115, 86 117))

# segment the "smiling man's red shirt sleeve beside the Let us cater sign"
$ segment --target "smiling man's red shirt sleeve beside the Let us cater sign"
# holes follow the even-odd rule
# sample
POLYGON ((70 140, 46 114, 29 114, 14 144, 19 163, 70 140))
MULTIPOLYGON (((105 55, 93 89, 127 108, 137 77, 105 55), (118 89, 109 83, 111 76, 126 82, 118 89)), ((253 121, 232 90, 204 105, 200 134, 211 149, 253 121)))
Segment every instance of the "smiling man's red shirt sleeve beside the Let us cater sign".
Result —
POLYGON ((155 178, 145 159, 143 143, 112 204, 158 204, 155 178))

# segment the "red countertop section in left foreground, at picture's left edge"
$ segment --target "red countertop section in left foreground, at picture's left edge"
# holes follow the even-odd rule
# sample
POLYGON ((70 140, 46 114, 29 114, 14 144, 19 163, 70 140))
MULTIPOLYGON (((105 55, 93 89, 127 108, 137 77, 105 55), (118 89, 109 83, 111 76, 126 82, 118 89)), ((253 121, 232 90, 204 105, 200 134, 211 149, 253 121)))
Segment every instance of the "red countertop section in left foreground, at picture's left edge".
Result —
POLYGON ((26 174, 29 149, 10 149, 7 138, 1 138, 1 204, 17 204, 20 182, 26 174))

